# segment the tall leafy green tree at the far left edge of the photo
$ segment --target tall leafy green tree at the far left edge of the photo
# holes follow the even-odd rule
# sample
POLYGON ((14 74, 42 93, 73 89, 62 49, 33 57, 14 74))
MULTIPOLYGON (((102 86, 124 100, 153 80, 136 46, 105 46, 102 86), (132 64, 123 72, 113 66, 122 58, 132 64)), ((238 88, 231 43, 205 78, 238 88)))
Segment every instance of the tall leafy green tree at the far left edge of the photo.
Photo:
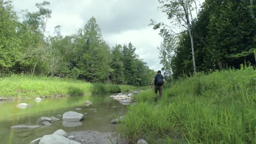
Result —
POLYGON ((11 1, 0 1, 0 73, 6 73, 21 57, 20 41, 16 37, 18 24, 11 1))

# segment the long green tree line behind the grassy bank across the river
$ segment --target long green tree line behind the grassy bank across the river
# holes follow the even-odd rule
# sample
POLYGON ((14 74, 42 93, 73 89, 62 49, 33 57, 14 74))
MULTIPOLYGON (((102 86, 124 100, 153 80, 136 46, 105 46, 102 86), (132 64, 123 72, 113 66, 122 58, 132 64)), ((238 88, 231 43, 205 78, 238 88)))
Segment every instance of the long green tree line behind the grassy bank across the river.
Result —
POLYGON ((45 27, 51 18, 49 5, 46 1, 37 3, 38 11, 23 11, 19 19, 11 1, 0 1, 0 74, 149 84, 154 71, 139 59, 135 46, 117 44, 110 49, 94 17, 72 35, 63 37, 61 26, 56 26, 54 35, 46 36, 45 27))

